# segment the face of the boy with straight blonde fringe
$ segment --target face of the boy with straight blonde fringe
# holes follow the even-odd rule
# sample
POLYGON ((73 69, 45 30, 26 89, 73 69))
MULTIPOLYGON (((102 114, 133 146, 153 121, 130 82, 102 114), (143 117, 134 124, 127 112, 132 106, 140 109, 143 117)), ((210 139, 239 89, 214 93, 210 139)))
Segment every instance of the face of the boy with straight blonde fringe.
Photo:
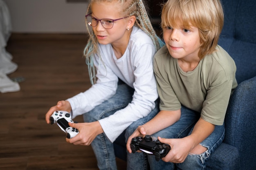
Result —
POLYGON ((190 26, 184 28, 182 24, 177 24, 177 28, 166 26, 163 28, 164 42, 173 58, 182 60, 198 60, 200 49, 200 36, 198 28, 190 26))

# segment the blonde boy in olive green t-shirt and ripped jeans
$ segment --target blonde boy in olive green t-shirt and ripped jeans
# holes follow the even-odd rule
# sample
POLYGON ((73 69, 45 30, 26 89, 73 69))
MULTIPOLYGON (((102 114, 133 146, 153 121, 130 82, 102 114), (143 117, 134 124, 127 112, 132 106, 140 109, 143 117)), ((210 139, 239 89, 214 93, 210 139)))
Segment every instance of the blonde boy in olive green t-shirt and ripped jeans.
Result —
POLYGON ((163 7, 166 46, 154 58, 161 111, 127 142, 129 152, 132 137, 146 134, 171 146, 159 162, 148 157, 151 170, 204 170, 224 139, 237 82, 234 60, 218 46, 223 20, 220 0, 168 0, 163 7))

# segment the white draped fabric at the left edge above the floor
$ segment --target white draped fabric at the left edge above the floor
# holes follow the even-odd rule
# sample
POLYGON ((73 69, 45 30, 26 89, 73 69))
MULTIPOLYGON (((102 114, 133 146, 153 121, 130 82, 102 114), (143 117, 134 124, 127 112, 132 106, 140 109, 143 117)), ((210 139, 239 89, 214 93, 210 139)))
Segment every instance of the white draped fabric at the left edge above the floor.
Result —
POLYGON ((11 35, 11 18, 9 9, 4 1, 0 0, 0 92, 20 91, 18 83, 11 81, 8 74, 13 73, 18 68, 13 63, 12 55, 5 50, 7 41, 11 35))

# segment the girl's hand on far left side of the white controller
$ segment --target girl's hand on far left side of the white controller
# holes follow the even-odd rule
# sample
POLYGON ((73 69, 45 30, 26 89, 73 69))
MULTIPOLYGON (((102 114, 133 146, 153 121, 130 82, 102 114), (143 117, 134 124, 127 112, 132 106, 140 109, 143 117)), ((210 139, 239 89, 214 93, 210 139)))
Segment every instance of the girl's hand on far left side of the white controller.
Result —
POLYGON ((65 110, 70 113, 71 111, 70 102, 62 100, 62 101, 59 101, 56 106, 52 106, 45 115, 45 120, 47 124, 50 123, 50 117, 52 116, 52 113, 54 113, 56 110, 65 110))

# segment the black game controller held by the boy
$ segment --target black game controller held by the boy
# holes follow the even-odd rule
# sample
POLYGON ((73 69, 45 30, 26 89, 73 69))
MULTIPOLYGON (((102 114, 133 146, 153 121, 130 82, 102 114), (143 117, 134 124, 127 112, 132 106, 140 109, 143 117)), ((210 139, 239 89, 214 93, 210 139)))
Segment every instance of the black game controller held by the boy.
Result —
POLYGON ((159 161, 167 155, 171 150, 171 146, 168 144, 163 144, 159 140, 152 141, 150 135, 143 137, 134 137, 130 144, 132 153, 135 153, 137 150, 141 150, 149 155, 155 155, 155 160, 159 161))

